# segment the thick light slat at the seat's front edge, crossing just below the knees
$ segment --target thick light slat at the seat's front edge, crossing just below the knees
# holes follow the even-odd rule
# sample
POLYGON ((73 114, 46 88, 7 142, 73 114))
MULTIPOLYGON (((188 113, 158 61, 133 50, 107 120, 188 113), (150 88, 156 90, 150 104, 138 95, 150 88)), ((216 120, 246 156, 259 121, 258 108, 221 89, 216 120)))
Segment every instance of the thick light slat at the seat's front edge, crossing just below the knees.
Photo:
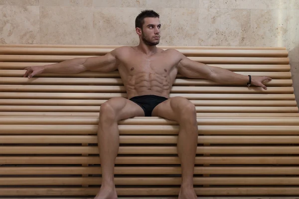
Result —
MULTIPOLYGON (((98 125, 9 125, 0 124, 0 134, 95 134, 98 125)), ((119 125, 120 134, 178 134, 178 125, 119 125)), ((297 135, 298 126, 199 125, 199 134, 297 135)))

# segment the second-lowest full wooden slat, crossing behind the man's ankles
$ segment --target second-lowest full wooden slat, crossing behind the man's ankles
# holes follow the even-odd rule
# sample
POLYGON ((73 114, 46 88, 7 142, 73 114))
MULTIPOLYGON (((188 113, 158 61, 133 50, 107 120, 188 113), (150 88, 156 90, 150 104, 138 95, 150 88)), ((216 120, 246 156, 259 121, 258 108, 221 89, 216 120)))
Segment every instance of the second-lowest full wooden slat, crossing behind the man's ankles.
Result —
MULTIPOLYGON (((0 178, 0 186, 101 185, 100 177, 0 178)), ((298 177, 194 177, 194 185, 299 185, 298 177)), ((180 177, 116 177, 115 185, 181 185, 180 177)))

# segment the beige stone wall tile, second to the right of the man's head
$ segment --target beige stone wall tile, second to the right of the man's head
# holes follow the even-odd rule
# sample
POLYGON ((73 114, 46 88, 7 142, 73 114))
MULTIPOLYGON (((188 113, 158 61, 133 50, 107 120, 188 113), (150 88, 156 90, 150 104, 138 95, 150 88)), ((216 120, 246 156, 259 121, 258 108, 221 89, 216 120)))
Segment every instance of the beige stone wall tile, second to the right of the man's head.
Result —
POLYGON ((201 9, 198 23, 199 45, 250 45, 251 26, 248 9, 201 9))

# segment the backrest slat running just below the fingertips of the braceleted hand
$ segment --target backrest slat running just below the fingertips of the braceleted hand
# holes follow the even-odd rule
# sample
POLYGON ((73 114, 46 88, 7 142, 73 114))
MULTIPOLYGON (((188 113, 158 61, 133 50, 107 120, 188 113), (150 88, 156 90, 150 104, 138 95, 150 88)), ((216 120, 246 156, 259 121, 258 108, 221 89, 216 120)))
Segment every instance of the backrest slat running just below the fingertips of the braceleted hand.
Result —
MULTIPOLYGON (((83 93, 125 93, 123 86, 78 86, 78 85, 1 85, 0 92, 83 92, 83 93)), ((269 87, 264 90, 261 87, 179 87, 174 86, 171 93, 219 93, 219 94, 293 94, 293 87, 269 87)))

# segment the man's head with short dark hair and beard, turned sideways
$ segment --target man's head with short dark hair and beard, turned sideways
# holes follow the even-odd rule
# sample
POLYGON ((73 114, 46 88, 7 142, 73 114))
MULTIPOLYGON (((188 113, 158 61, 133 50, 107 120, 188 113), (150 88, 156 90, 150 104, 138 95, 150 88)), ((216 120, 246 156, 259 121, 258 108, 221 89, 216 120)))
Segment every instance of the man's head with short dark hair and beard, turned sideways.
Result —
POLYGON ((159 14, 153 10, 144 10, 136 17, 136 32, 146 45, 154 46, 160 41, 159 17, 159 14))

